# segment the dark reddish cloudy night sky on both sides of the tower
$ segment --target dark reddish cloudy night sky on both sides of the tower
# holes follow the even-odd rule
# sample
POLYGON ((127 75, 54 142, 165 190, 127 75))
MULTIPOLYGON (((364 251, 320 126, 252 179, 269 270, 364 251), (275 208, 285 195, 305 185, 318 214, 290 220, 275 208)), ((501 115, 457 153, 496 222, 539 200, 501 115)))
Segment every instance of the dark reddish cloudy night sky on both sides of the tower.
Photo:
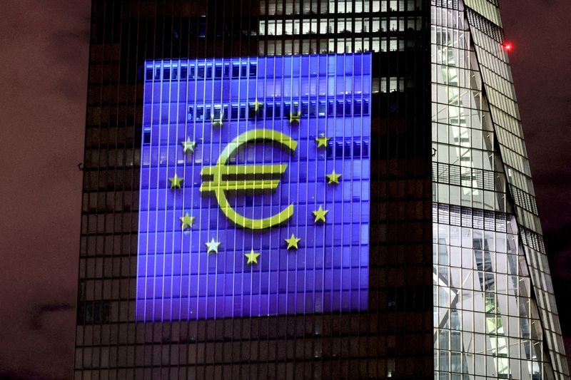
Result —
MULTIPOLYGON (((571 1, 500 3, 571 352, 571 1)), ((0 378, 72 375, 89 11, 0 2, 0 378)))

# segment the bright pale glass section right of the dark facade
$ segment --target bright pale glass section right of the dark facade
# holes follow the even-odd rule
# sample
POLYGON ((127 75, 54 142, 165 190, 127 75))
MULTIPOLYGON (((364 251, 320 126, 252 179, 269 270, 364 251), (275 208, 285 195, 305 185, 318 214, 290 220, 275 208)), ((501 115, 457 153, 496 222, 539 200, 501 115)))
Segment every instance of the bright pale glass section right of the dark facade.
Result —
POLYGON ((466 2, 431 9, 435 376, 565 379, 497 4, 466 2))

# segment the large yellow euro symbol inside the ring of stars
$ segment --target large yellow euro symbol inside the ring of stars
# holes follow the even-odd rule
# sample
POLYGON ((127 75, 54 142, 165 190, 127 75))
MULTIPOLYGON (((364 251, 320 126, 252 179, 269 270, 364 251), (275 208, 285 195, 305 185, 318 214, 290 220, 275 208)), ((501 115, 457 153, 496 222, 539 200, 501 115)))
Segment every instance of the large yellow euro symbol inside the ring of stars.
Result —
POLYGON ((293 215, 293 203, 276 215, 265 219, 250 219, 238 214, 228 203, 226 191, 232 192, 266 192, 276 190, 280 183, 279 177, 283 175, 288 165, 226 165, 228 158, 241 145, 256 141, 270 140, 278 143, 282 148, 295 152, 298 143, 288 135, 269 129, 255 129, 241 133, 232 140, 220 153, 214 166, 206 166, 201 170, 203 183, 201 193, 213 192, 218 200, 222 212, 234 224, 251 230, 279 225, 293 215), (208 178, 208 179, 205 179, 208 178), (268 179, 270 178, 270 179, 268 179))

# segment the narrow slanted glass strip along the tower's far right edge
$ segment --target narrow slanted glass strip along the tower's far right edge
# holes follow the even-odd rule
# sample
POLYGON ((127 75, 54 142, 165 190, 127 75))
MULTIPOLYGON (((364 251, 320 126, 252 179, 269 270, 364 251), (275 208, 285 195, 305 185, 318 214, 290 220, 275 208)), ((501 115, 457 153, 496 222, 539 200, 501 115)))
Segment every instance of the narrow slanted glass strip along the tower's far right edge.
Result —
MULTIPOLYGON (((468 5, 472 2, 475 3, 474 10, 480 11, 482 5, 473 0, 468 1, 468 5)), ((503 48, 503 34, 499 28, 501 24, 497 21, 500 19, 497 5, 496 1, 489 1, 487 4, 488 11, 495 16, 482 17, 472 9, 468 9, 468 23, 473 34, 476 56, 480 62, 482 82, 490 102, 490 114, 507 173, 514 214, 520 226, 522 248, 532 280, 535 302, 539 309, 540 327, 545 339, 545 373, 550 376, 550 372, 553 371, 555 378, 563 379, 569 376, 569 369, 565 359, 561 327, 541 235, 510 66, 503 48)), ((485 15, 483 11, 482 14, 485 15)))

